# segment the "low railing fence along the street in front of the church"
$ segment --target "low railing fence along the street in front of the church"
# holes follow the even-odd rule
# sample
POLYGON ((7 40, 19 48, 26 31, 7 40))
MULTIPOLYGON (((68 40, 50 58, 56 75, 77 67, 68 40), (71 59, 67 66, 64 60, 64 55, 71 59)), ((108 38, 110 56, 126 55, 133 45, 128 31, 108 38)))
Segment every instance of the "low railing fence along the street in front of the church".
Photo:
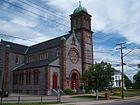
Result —
POLYGON ((61 102, 61 96, 47 96, 47 95, 22 95, 11 94, 9 97, 1 96, 2 103, 43 103, 43 102, 61 102))

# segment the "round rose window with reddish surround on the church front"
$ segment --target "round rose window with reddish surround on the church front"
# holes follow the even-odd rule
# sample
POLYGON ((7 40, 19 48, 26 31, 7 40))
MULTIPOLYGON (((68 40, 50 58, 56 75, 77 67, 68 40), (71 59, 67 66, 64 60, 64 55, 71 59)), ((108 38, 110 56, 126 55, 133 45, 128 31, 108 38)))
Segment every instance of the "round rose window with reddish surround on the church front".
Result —
POLYGON ((70 51, 69 51, 69 57, 70 57, 70 61, 72 63, 77 63, 78 60, 79 60, 78 51, 75 48, 70 49, 70 51))

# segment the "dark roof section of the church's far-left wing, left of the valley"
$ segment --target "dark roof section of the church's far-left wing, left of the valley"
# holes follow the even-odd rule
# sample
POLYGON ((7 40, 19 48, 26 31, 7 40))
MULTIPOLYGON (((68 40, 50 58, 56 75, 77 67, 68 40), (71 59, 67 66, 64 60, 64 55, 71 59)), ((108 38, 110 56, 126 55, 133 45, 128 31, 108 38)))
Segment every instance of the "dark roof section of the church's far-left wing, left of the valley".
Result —
POLYGON ((10 52, 16 53, 16 54, 24 54, 26 49, 28 48, 28 46, 24 46, 24 45, 16 44, 13 42, 4 41, 4 40, 1 40, 1 43, 5 47, 9 46, 10 52))

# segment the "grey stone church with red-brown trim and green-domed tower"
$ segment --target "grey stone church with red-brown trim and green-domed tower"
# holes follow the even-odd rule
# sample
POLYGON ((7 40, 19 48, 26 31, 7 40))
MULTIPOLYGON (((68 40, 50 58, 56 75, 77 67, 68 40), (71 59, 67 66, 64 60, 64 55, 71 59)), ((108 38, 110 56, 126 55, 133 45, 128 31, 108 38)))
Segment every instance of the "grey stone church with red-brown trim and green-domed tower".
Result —
POLYGON ((93 64, 91 15, 79 4, 70 20, 68 34, 32 46, 1 40, 1 88, 25 94, 78 90, 82 74, 93 64))

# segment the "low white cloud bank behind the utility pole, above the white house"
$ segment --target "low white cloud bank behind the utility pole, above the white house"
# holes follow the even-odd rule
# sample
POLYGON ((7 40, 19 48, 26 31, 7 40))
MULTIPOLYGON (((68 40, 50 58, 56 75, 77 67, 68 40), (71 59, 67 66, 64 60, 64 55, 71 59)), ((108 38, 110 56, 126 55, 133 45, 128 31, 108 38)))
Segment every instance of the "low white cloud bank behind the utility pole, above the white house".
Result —
MULTIPOLYGON (((97 63, 100 63, 101 61, 108 62, 112 64, 112 66, 116 70, 122 71, 121 67, 121 57, 120 57, 120 51, 106 49, 102 46, 95 46, 94 47, 94 61, 97 63)), ((124 54, 132 51, 132 49, 124 50, 124 54)), ((140 63, 140 60, 138 59, 138 54, 140 53, 139 49, 133 50, 131 53, 129 53, 127 56, 124 57, 124 74, 127 75, 131 80, 133 80, 133 76, 137 73, 138 68, 137 64, 140 63)))

